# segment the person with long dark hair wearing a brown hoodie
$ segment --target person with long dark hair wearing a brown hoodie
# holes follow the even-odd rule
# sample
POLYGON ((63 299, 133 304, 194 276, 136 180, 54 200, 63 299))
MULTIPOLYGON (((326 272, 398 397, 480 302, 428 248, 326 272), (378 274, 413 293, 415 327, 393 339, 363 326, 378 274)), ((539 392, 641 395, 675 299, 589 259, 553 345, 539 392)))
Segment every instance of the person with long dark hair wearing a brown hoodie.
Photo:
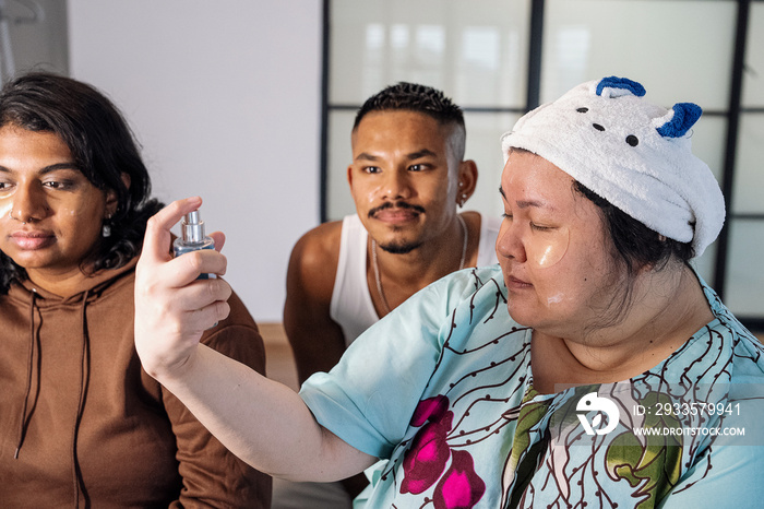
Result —
MULTIPOLYGON (((253 507, 271 478, 141 368, 135 263, 162 208, 94 87, 31 73, 0 92, 0 507, 253 507)), ((264 372, 238 298, 208 346, 264 372)))

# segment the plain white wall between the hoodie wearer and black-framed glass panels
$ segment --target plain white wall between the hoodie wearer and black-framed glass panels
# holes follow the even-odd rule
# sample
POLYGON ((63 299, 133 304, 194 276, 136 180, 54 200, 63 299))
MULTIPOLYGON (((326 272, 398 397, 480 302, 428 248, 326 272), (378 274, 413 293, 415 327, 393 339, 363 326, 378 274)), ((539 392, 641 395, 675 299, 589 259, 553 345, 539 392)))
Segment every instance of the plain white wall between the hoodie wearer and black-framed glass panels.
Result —
POLYGON ((164 201, 200 194, 226 279, 280 321, 319 222, 320 0, 69 0, 71 75, 109 95, 164 201))

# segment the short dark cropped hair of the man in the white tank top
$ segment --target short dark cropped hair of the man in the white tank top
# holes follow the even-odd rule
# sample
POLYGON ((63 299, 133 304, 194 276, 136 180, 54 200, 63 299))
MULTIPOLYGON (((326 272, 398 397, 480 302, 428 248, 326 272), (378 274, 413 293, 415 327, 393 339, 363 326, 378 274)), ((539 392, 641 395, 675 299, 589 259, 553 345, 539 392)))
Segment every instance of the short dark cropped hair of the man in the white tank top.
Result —
POLYGON ((459 138, 454 153, 458 161, 464 158, 465 127, 462 108, 456 106, 441 91, 417 83, 399 82, 387 86, 369 97, 356 114, 353 129, 356 130, 363 117, 372 111, 407 110, 425 114, 442 126, 453 125, 459 138))

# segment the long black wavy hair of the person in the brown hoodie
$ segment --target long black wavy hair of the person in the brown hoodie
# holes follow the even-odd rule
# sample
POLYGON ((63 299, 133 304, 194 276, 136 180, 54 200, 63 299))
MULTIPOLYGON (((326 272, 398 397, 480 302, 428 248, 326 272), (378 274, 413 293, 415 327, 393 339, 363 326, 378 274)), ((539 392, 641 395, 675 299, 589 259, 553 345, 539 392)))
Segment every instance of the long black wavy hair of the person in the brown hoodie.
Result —
MULTIPOLYGON (((151 199, 151 178, 132 131, 117 107, 93 86, 47 72, 33 72, 0 91, 0 127, 52 132, 72 153, 82 174, 96 188, 115 191, 117 210, 108 220, 111 235, 102 237, 88 257, 93 270, 117 269, 138 256, 148 217, 163 204, 151 199), (129 186, 122 175, 130 179, 129 186)), ((0 252, 0 293, 26 271, 0 252)))

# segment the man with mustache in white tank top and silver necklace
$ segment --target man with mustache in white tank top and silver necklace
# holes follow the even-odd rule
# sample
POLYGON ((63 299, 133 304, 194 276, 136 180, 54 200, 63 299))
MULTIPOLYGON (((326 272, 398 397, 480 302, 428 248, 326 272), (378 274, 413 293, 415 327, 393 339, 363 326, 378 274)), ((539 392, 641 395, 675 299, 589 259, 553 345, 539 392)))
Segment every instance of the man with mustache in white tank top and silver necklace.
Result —
MULTIPOLYGON (((298 240, 284 327, 300 383, 329 371, 368 327, 464 268, 497 263, 500 217, 457 209, 475 191, 462 110, 441 92, 398 83, 356 116, 347 179, 357 214, 298 240)), ((349 508, 366 484, 274 482, 274 509, 349 508)))

